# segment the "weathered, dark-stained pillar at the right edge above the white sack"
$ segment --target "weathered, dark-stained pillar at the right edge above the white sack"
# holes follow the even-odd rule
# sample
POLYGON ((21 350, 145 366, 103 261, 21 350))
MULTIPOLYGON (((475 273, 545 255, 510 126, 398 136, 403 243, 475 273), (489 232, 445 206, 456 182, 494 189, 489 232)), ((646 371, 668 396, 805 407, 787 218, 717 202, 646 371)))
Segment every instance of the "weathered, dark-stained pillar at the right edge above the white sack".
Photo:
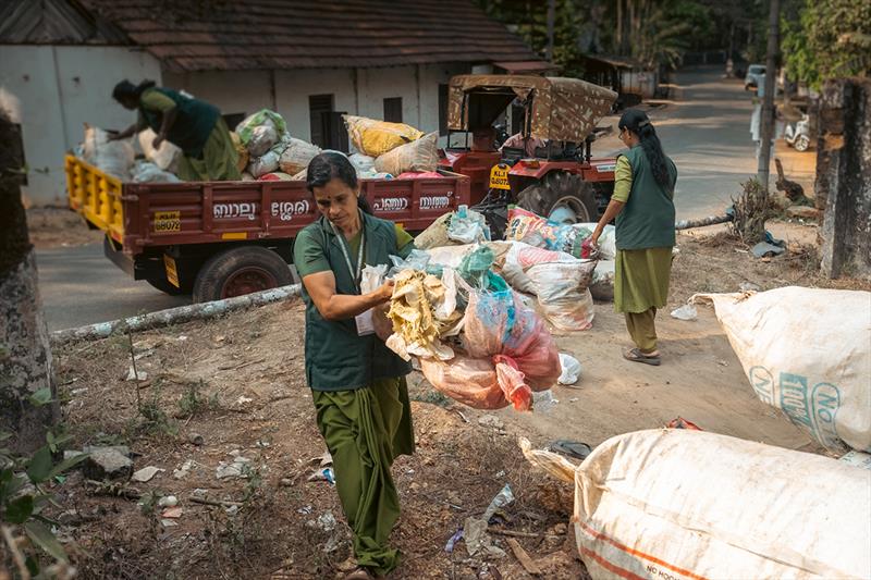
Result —
POLYGON ((818 126, 822 272, 871 279, 871 79, 826 82, 818 126))

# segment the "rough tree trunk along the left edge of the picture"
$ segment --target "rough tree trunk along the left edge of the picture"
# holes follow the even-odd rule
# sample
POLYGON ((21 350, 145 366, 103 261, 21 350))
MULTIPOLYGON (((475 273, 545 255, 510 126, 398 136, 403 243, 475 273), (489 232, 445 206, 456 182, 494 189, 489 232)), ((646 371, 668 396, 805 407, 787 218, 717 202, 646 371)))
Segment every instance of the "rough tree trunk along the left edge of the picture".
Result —
POLYGON ((45 444, 60 417, 48 329, 36 279, 36 257, 21 202, 23 153, 17 128, 0 109, 0 431, 10 448, 30 452, 45 444), (49 388, 52 402, 30 396, 49 388))

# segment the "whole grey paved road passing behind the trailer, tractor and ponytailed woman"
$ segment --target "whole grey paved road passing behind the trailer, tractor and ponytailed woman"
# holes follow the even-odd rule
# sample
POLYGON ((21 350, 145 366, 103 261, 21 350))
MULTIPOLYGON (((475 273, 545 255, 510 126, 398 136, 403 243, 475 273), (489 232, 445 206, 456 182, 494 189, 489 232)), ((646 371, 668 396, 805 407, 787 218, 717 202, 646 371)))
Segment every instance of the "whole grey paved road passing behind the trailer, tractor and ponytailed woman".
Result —
MULTIPOLYGON (((750 94, 723 81, 719 67, 677 75, 677 100, 653 109, 651 118, 678 168, 677 218, 721 213, 739 184, 756 173, 750 141, 750 94)), ((615 121, 614 121, 615 122, 615 121)), ((614 136, 596 153, 619 147, 614 136)), ((40 292, 49 330, 114 320, 189 304, 147 282, 134 282, 102 255, 100 244, 37 250, 40 292)))

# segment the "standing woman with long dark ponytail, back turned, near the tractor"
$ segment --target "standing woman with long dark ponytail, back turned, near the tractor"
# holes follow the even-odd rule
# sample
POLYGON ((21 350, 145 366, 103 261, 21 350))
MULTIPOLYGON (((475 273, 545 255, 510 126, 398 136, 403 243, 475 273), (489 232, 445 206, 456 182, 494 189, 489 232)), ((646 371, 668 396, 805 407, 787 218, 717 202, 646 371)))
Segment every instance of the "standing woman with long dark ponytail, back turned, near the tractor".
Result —
POLYGON ((657 309, 668 300, 672 248, 675 244, 674 185, 677 168, 662 151, 647 114, 629 109, 619 119, 619 138, 628 151, 617 157, 614 195, 592 233, 599 242, 616 218, 614 310, 626 317, 636 348, 624 358, 658 366, 657 309))

